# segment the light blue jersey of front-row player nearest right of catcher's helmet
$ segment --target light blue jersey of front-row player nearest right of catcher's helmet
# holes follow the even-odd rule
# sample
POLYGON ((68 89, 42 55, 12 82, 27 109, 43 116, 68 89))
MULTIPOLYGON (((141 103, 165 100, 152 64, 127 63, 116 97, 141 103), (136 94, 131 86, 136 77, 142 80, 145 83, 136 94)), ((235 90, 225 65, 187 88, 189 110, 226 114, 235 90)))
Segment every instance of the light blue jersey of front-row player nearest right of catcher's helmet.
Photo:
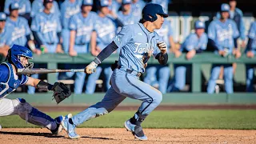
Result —
POLYGON ((56 14, 46 14, 44 12, 36 14, 32 20, 31 30, 37 32, 43 44, 58 43, 58 32, 61 32, 61 22, 56 14))

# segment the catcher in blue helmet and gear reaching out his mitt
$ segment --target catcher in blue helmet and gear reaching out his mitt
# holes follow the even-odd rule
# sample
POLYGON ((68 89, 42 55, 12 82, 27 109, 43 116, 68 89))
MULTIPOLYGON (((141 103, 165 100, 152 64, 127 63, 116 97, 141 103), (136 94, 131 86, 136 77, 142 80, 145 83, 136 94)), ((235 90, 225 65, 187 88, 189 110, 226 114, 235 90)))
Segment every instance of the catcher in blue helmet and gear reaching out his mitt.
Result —
MULTIPOLYGON (((54 91, 54 98, 57 103, 70 96, 71 91, 63 83, 55 82, 54 85, 43 82, 39 79, 28 77, 27 75, 17 75, 18 69, 30 69, 32 62, 28 62, 32 58, 32 52, 24 47, 14 45, 8 51, 6 62, 0 65, 0 116, 18 114, 26 122, 30 122, 37 126, 44 126, 51 131, 52 134, 58 134, 62 130, 60 123, 64 117, 50 118, 49 115, 42 113, 23 98, 8 99, 5 98, 21 85, 34 86, 38 90, 54 91)), ((70 114, 69 114, 70 115, 70 114)), ((67 116, 69 117, 69 116, 67 116)))

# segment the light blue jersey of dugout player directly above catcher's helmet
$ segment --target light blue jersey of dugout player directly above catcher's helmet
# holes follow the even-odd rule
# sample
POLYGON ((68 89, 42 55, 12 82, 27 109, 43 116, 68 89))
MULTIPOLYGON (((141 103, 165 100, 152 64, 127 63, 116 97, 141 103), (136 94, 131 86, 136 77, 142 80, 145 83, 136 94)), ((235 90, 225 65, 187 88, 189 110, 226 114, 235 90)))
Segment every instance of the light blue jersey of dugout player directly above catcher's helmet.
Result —
POLYGON ((10 18, 7 18, 6 23, 14 27, 14 30, 11 34, 11 41, 16 45, 26 46, 26 35, 31 33, 27 20, 22 17, 18 17, 17 21, 13 21, 10 18))

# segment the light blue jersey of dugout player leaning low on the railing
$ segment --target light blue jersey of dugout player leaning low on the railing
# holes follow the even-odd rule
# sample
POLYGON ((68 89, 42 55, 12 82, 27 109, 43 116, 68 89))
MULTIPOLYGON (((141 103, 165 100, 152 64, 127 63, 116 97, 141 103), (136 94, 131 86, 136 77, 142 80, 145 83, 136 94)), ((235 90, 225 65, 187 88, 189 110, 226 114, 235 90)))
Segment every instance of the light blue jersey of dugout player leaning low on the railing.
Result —
POLYGON ((207 42, 208 37, 206 33, 202 34, 200 38, 198 38, 197 34, 191 33, 189 36, 186 37, 186 40, 182 43, 180 50, 206 50, 207 42))

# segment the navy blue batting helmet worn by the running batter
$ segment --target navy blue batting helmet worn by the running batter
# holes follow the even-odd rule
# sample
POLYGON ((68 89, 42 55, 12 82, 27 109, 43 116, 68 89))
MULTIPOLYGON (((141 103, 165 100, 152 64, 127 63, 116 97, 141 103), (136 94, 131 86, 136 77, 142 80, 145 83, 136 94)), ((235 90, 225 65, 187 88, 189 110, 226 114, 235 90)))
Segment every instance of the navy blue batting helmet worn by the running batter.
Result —
POLYGON ((157 14, 162 15, 164 18, 168 17, 168 14, 163 11, 162 6, 156 3, 149 3, 142 10, 142 18, 146 21, 154 22, 158 19, 157 14))

